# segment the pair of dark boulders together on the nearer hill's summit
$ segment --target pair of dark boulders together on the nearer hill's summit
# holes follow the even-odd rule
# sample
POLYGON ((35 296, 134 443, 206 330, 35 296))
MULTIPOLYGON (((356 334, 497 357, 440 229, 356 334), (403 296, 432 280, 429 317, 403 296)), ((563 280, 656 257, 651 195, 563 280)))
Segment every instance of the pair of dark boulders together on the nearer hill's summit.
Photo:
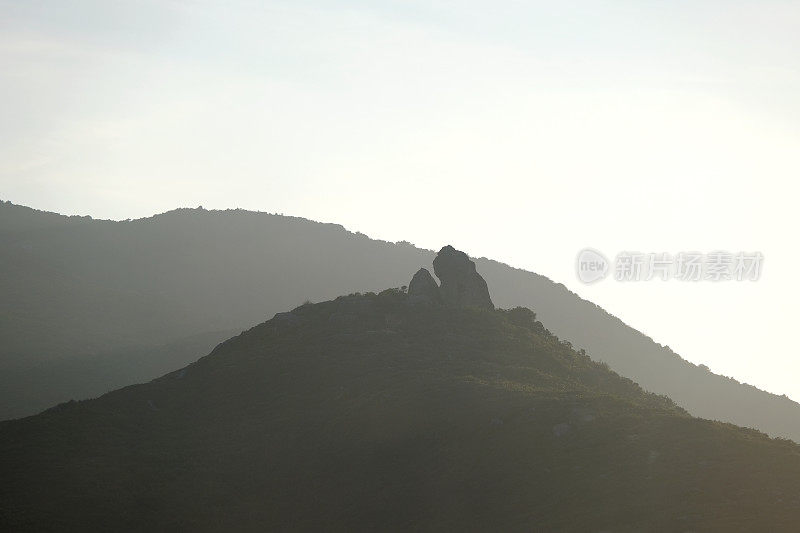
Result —
POLYGON ((420 301, 441 302, 453 307, 494 309, 486 280, 475 270, 475 263, 464 252, 445 246, 433 260, 433 271, 441 286, 427 269, 414 274, 408 294, 420 301))

